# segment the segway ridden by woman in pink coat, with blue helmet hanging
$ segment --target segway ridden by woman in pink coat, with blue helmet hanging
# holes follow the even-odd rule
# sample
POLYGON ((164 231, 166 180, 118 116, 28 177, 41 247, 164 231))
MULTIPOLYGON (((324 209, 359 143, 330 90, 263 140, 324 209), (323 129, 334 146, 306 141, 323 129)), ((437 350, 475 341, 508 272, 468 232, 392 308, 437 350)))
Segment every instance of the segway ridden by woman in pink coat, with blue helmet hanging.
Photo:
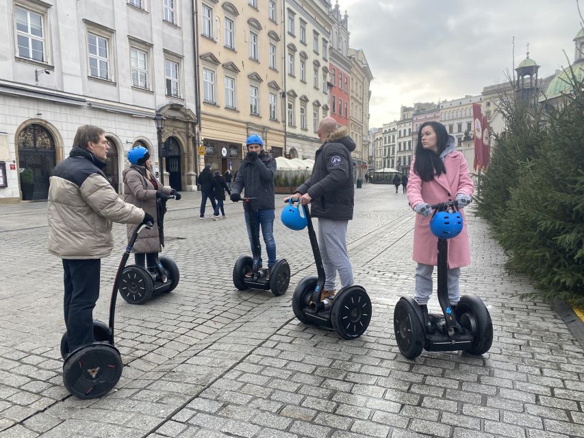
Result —
POLYGON ((480 298, 461 296, 453 309, 448 300, 448 239, 462 231, 463 220, 456 201, 431 205, 430 229, 438 237, 438 302, 442 315, 428 314, 409 296, 394 309, 394 331, 401 354, 414 359, 427 351, 466 351, 483 355, 493 342, 491 315, 480 298))

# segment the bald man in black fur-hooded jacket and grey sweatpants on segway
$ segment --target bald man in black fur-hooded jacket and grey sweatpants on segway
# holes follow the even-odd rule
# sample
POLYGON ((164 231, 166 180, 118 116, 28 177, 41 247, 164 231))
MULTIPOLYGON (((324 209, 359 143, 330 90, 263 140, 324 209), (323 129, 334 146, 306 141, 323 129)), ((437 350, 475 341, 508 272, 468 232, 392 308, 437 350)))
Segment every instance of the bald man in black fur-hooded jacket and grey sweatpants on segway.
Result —
MULTIPOLYGON (((321 299, 335 294, 337 271, 342 287, 353 284, 353 267, 346 250, 346 228, 353 219, 355 189, 353 188, 353 160, 355 142, 348 136, 348 128, 332 117, 325 117, 318 125, 322 145, 316 151, 312 175, 296 189, 301 203, 312 203, 310 213, 318 218, 318 248, 325 268, 325 287, 321 299)), ((288 201, 288 198, 285 201, 288 201)))

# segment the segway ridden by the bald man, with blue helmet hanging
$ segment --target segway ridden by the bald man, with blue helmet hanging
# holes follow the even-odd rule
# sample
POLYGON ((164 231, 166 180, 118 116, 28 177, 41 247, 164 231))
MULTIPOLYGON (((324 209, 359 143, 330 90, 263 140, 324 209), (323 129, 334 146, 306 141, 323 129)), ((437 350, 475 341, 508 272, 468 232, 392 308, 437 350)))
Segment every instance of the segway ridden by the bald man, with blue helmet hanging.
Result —
MULTIPOLYGON (((299 201, 299 198, 290 198, 288 207, 283 211, 283 217, 285 214, 298 215, 299 213, 294 213, 292 209, 299 210, 299 206, 294 207, 294 203, 299 201)), ((302 207, 318 276, 307 276, 298 283, 294 289, 294 295, 292 295, 292 311, 294 311, 296 318, 305 324, 315 324, 325 329, 332 329, 345 339, 355 339, 365 333, 369 326, 372 311, 371 300, 364 287, 348 285, 340 289, 332 298, 320 301, 322 289, 325 286, 325 268, 322 266, 322 258, 309 208, 306 205, 302 205, 302 207)), ((292 227, 284 224, 292 229, 304 228, 300 228, 297 226, 298 224, 293 224, 292 227)))

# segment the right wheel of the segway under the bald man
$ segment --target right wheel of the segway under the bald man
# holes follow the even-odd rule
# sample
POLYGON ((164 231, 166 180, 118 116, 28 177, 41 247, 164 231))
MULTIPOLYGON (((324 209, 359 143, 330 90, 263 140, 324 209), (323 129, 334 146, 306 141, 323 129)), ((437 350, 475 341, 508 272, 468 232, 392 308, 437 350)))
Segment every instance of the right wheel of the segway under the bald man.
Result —
POLYGON ((345 339, 361 336, 369 326, 371 309, 371 300, 363 287, 343 287, 333 299, 333 329, 345 339))

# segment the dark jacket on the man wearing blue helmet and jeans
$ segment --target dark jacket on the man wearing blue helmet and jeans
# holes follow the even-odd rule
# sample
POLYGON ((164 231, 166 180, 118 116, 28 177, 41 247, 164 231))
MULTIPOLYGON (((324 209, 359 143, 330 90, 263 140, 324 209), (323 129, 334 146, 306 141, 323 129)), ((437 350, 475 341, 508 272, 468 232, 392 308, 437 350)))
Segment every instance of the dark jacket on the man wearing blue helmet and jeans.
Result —
POLYGON ((236 181, 231 186, 231 193, 241 193, 245 188, 244 197, 256 198, 251 201, 251 208, 275 209, 274 205, 274 174, 276 160, 265 151, 253 162, 247 157, 241 162, 236 181))

